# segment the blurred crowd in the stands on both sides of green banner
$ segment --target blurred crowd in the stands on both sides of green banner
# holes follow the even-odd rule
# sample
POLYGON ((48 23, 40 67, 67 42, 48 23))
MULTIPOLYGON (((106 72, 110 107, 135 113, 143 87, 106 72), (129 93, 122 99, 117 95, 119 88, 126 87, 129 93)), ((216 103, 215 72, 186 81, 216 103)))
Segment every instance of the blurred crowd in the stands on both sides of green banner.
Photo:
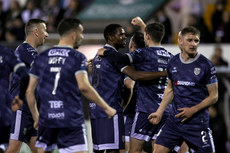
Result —
MULTIPOLYGON (((31 18, 47 22, 56 33, 62 18, 76 17, 94 0, 0 0, 0 41, 24 39, 24 24, 31 18), (7 5, 5 4, 7 3, 7 5)), ((163 43, 175 43, 178 29, 192 25, 201 31, 201 43, 230 42, 229 0, 172 0, 147 19, 166 27, 163 43)))

